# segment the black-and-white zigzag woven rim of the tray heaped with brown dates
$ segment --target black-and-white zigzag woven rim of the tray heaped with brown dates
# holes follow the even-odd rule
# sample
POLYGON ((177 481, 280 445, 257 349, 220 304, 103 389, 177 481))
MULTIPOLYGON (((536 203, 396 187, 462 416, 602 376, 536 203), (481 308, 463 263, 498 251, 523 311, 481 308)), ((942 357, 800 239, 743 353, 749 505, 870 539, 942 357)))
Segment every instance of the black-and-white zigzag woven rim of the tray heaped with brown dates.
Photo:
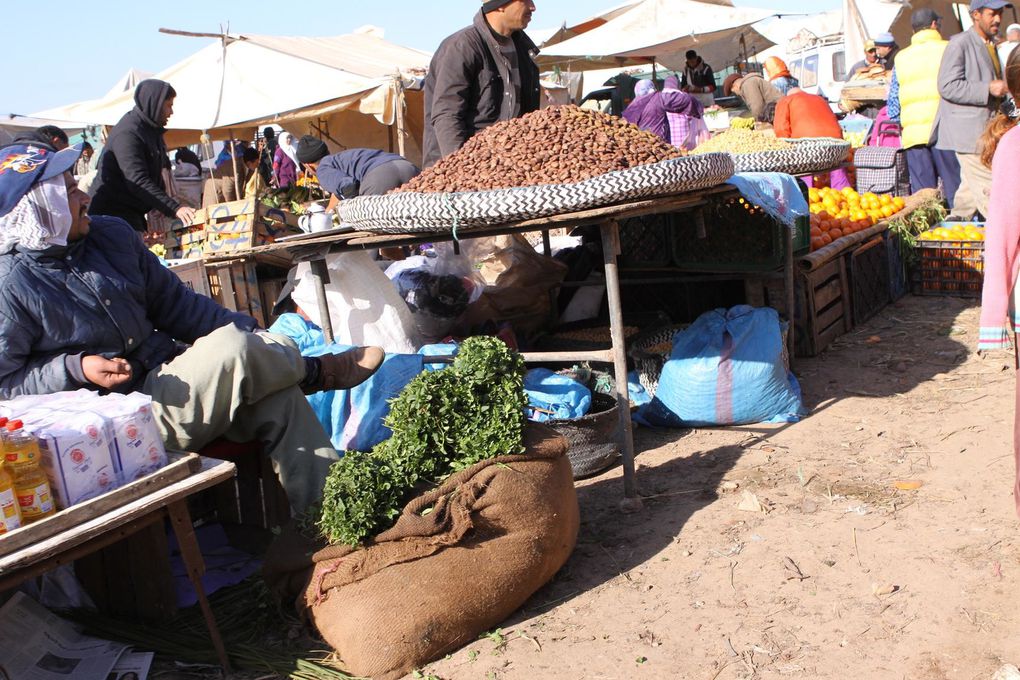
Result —
POLYGON ((608 172, 572 185, 363 196, 342 201, 339 213, 342 221, 364 231, 450 231, 708 189, 732 174, 729 154, 703 154, 608 172))

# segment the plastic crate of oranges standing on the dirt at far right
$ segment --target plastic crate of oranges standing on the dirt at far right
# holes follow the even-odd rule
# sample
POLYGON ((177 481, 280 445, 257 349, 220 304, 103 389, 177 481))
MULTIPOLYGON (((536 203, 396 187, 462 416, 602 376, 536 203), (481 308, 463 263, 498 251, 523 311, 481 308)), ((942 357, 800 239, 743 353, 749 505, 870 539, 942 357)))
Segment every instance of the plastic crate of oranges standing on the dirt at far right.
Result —
POLYGON ((984 282, 983 241, 919 241, 920 287, 925 296, 980 298, 984 282))

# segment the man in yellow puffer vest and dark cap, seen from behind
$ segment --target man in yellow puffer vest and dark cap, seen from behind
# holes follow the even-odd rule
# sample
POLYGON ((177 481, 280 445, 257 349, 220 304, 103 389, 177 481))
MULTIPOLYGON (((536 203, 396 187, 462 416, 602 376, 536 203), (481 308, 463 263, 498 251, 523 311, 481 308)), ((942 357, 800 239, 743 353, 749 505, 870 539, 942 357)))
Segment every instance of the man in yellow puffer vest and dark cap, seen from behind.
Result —
POLYGON ((889 86, 888 115, 903 127, 910 189, 933 189, 942 180, 942 191, 953 206, 960 187, 960 161, 956 153, 934 148, 935 114, 938 112, 938 66, 949 41, 938 33, 941 17, 923 7, 911 15, 914 36, 910 47, 896 58, 889 86))

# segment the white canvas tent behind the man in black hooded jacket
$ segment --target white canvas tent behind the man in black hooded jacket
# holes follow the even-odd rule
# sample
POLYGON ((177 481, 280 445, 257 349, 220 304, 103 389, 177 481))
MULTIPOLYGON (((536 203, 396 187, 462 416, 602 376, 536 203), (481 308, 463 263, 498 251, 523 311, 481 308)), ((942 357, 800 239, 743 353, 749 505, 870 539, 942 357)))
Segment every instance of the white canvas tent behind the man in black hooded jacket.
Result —
MULTIPOLYGON (((298 132, 343 111, 368 114, 386 136, 405 107, 402 73, 424 68, 428 59, 367 34, 222 36, 153 77, 177 93, 166 135, 171 148, 197 142, 202 130, 226 139, 275 122, 298 132)), ((40 115, 112 125, 133 106, 134 93, 124 92, 40 115)))

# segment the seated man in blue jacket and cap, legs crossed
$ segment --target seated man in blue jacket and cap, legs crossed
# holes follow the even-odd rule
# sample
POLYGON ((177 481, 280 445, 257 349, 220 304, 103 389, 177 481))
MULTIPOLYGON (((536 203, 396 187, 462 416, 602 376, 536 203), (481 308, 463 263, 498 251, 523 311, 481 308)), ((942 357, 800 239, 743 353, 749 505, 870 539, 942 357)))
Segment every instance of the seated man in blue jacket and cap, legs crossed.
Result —
POLYGON ((0 399, 142 391, 166 444, 261 440, 300 512, 338 460, 304 393, 353 386, 378 348, 302 358, 287 337, 193 293, 120 218, 88 215, 80 149, 0 150, 0 399))

